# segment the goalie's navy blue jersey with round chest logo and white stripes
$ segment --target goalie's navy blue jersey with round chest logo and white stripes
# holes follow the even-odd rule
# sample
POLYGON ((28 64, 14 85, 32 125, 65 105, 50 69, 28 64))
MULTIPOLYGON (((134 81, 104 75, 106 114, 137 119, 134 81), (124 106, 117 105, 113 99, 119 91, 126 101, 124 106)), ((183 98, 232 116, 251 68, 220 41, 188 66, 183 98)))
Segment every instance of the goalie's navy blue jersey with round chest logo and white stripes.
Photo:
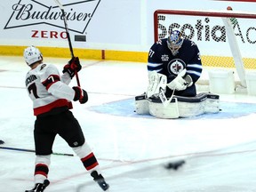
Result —
POLYGON ((188 39, 183 40, 179 52, 173 56, 167 46, 167 38, 153 44, 148 52, 148 71, 167 76, 170 83, 184 68, 195 84, 202 73, 202 62, 197 45, 188 39))

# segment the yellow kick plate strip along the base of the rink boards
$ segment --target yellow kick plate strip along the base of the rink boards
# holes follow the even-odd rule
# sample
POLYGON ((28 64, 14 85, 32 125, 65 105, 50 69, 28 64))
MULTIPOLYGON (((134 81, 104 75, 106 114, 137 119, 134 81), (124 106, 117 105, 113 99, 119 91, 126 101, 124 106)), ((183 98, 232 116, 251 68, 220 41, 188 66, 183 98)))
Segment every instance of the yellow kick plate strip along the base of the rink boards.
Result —
MULTIPOLYGON (((3 56, 23 56, 26 46, 0 46, 0 55, 3 56)), ((43 52, 44 57, 70 58, 68 48, 60 47, 38 47, 43 52)), ((74 48, 77 57, 84 60, 120 60, 132 62, 148 62, 148 52, 125 52, 113 50, 92 50, 74 48)), ((244 68, 256 68, 256 59, 243 58, 244 68)), ((232 57, 205 56, 202 55, 203 66, 217 68, 236 68, 232 57)))

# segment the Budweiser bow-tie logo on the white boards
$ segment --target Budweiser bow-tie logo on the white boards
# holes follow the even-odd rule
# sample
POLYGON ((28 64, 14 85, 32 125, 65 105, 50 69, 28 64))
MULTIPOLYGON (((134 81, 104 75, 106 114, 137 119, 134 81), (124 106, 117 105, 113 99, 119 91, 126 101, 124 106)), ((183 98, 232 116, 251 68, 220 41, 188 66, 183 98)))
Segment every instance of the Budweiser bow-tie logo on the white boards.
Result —
MULTIPOLYGON (((72 1, 72 4, 63 4, 69 30, 84 34, 99 4, 100 0, 72 1)), ((12 5, 12 11, 4 29, 44 24, 64 28, 63 13, 54 1, 50 5, 36 0, 20 0, 19 3, 12 5)))

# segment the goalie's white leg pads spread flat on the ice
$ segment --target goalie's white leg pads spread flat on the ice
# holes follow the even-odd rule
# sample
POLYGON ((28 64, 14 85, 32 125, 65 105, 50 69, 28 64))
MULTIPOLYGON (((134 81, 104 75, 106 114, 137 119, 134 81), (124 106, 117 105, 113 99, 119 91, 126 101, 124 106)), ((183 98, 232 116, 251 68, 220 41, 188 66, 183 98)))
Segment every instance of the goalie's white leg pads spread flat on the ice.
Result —
POLYGON ((219 99, 219 95, 208 92, 201 92, 196 97, 173 95, 170 104, 164 107, 159 98, 148 99, 144 93, 135 97, 135 111, 140 115, 167 119, 199 116, 204 113, 219 113, 219 99))

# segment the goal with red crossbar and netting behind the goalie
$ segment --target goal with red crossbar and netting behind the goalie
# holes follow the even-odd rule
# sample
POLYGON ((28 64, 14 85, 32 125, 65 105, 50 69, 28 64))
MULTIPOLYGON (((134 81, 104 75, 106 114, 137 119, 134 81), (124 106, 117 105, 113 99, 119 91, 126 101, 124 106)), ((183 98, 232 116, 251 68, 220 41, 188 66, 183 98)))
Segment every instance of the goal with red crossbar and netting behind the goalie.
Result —
POLYGON ((255 19, 256 13, 249 12, 156 10, 154 40, 179 29, 198 45, 204 67, 236 68, 239 83, 246 86, 245 72, 256 68, 255 19))

